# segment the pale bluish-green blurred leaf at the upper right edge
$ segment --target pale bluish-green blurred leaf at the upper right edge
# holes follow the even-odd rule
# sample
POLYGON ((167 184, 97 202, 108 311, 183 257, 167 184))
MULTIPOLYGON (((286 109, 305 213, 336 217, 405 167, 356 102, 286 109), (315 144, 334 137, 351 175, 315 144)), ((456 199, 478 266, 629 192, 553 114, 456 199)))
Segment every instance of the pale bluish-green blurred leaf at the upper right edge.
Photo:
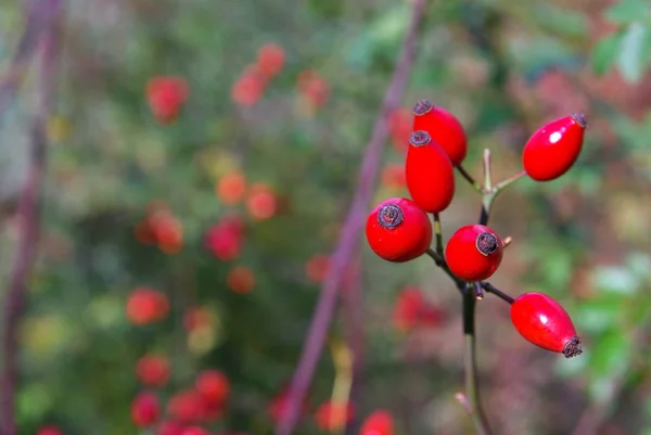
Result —
POLYGON ((617 66, 626 81, 634 84, 642 78, 650 44, 651 31, 641 23, 631 23, 622 35, 617 66))

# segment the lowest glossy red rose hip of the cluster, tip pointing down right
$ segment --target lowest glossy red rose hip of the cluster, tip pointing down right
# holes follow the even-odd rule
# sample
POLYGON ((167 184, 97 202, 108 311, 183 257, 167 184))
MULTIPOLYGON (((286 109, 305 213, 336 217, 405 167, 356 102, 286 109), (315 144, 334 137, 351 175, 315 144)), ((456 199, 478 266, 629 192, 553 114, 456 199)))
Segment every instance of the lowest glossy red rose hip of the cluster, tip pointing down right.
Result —
POLYGON ((520 295, 511 304, 511 321, 529 343, 572 358, 583 353, 567 311, 544 293, 520 295))

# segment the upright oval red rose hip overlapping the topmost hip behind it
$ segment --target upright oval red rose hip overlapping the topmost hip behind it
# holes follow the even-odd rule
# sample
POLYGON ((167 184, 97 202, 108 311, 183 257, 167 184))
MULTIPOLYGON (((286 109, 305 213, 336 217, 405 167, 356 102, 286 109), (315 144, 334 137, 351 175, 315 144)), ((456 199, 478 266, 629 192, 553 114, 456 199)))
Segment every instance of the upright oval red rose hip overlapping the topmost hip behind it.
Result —
POLYGON ((455 168, 429 132, 411 133, 405 175, 411 199, 425 212, 441 213, 452 202, 455 168))

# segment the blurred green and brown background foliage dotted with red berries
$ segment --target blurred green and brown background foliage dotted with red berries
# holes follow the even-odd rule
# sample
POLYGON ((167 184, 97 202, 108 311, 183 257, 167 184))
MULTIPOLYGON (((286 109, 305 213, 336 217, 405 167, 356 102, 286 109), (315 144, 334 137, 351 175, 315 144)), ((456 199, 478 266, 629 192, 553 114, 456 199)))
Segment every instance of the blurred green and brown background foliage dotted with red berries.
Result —
MULTIPOLYGON (((3 73, 24 12, 0 1, 3 73)), ((138 434, 139 393, 174 413, 169 404, 192 396, 204 370, 230 383, 206 427, 272 433, 409 15, 399 0, 65 2, 41 241, 20 323, 21 434, 47 424, 138 434), (168 120, 152 110, 151 80, 165 76, 188 93, 168 120), (169 363, 164 385, 143 385, 145 355, 169 363)), ((544 123, 572 112, 589 120, 566 176, 520 180, 495 204, 493 227, 514 242, 492 282, 513 296, 552 295, 585 344, 565 360, 518 335, 501 300, 480 302, 480 376, 496 433, 651 434, 650 65, 644 0, 427 2, 374 201, 407 195, 405 130, 419 98, 462 120, 464 166, 477 178, 483 149, 506 178, 544 123)), ((35 89, 30 74, 0 114, 5 283, 35 89)), ((475 221, 478 206, 458 178, 444 236, 475 221)), ((346 287, 360 285, 360 316, 337 315, 296 433, 327 433, 315 413, 333 386, 345 391, 342 349, 357 325, 355 422, 383 408, 396 434, 473 433, 454 398, 463 385, 454 285, 429 258, 394 265, 361 245, 346 287), (414 318, 414 304, 429 315, 414 318)))

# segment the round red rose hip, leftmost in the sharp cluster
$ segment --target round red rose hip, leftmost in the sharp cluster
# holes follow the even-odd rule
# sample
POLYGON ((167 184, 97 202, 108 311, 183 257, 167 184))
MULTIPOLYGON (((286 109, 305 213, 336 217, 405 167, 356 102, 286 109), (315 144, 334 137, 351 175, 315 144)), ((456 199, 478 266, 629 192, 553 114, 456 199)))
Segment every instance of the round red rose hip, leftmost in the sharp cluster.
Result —
POLYGON ((373 208, 367 218, 366 234, 378 256, 405 263, 427 251, 432 243, 432 223, 413 201, 392 197, 373 208))

